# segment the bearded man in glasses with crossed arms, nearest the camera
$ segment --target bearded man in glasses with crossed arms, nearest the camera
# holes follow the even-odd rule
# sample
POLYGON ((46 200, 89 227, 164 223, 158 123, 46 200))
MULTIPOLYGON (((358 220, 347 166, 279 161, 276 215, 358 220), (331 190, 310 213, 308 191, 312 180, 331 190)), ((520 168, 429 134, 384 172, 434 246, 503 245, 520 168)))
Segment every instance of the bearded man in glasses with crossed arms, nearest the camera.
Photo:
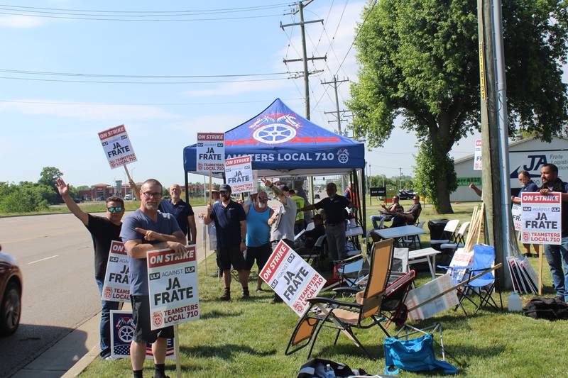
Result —
POLYGON ((170 213, 158 211, 162 184, 147 179, 140 189, 140 209, 124 219, 120 236, 129 255, 130 294, 133 321, 136 323, 130 345, 130 360, 135 378, 142 377, 146 343, 152 343, 155 378, 164 378, 165 352, 168 338, 173 338, 173 327, 151 329, 148 297, 148 267, 146 254, 151 250, 169 248, 178 255, 185 252, 185 235, 170 213))

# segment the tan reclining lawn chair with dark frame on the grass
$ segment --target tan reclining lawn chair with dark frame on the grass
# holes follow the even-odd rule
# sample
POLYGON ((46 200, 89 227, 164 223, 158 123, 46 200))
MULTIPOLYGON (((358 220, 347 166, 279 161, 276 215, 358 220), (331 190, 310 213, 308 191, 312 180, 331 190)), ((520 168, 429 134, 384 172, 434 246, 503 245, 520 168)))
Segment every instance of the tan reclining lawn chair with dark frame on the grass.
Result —
MULTIPOLYGON (((393 240, 382 240, 376 243, 375 252, 371 255, 371 270, 368 282, 363 291, 355 296, 355 301, 346 302, 337 299, 316 297, 308 299, 310 307, 304 313, 290 337, 285 354, 290 355, 305 348, 310 342, 310 358, 312 350, 323 326, 337 329, 334 345, 337 344, 339 333, 344 333, 358 347, 364 350, 369 358, 368 351, 353 333, 353 328, 372 328, 378 326, 388 336, 388 332, 381 324, 383 321, 398 321, 396 315, 402 318, 401 310, 404 299, 414 280, 414 271, 406 274, 387 287, 390 275, 393 240), (316 309, 317 308, 317 309, 316 309)), ((387 325, 388 327, 388 325, 387 325)))

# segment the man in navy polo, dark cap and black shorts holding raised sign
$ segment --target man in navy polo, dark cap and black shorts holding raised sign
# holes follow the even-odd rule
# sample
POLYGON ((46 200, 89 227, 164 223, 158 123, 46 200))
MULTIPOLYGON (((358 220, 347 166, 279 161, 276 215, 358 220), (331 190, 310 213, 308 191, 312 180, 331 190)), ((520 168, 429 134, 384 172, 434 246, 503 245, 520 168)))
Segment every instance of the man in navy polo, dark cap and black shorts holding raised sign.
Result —
POLYGON ((217 266, 223 272, 225 286, 222 301, 231 300, 231 265, 239 272, 239 281, 243 286, 243 298, 249 298, 249 270, 246 262, 246 215, 243 206, 231 200, 231 187, 222 184, 219 187, 221 202, 207 205, 205 224, 215 223, 217 233, 217 266))

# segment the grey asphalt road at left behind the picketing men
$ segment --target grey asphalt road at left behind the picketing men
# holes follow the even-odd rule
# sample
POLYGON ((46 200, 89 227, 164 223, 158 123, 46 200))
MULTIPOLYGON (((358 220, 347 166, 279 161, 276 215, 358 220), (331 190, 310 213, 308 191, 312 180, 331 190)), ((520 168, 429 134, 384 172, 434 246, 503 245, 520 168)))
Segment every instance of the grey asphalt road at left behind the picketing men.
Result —
MULTIPOLYGON (((204 207, 194 211, 197 221, 204 207)), ((198 258, 201 235, 197 222, 198 258)), ((91 236, 72 214, 1 218, 0 244, 23 272, 20 328, 0 338, 0 377, 9 377, 98 313, 100 297, 91 236)))

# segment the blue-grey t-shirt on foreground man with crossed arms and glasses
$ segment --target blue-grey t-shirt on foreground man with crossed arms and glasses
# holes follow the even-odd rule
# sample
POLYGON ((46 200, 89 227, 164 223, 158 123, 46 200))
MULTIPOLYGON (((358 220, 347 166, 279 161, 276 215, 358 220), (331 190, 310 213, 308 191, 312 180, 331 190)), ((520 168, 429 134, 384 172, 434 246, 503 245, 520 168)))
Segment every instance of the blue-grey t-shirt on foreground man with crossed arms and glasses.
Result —
MULTIPOLYGON (((143 243, 158 244, 162 242, 144 240, 144 235, 136 232, 135 228, 143 228, 144 230, 151 230, 157 233, 165 233, 172 235, 176 231, 180 231, 180 226, 175 218, 170 213, 162 213, 158 211, 158 221, 154 222, 140 209, 134 211, 124 218, 122 221, 122 230, 120 237, 122 243, 129 240, 142 240, 143 243)), ((148 267, 146 267, 146 258, 135 259, 129 257, 129 279, 130 279, 130 294, 131 295, 148 295, 148 267)))

